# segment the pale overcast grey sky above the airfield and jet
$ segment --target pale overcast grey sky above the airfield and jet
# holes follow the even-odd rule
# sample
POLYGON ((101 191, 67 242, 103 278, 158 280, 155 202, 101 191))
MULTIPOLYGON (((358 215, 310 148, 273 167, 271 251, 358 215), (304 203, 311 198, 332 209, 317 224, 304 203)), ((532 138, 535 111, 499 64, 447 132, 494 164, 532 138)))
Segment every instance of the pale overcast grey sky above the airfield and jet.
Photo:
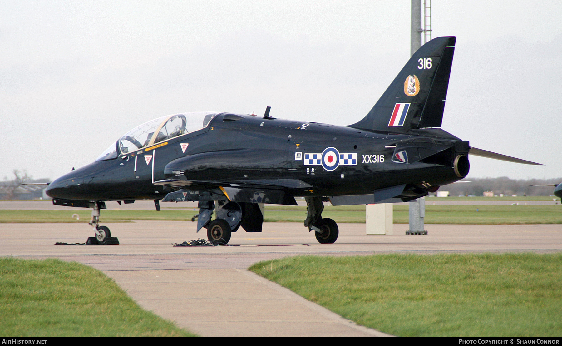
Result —
MULTIPOLYGON (((560 1, 433 1, 457 37, 443 129, 562 176, 560 1)), ((347 125, 409 58, 410 1, 0 1, 0 178, 54 179, 142 122, 191 111, 347 125)))

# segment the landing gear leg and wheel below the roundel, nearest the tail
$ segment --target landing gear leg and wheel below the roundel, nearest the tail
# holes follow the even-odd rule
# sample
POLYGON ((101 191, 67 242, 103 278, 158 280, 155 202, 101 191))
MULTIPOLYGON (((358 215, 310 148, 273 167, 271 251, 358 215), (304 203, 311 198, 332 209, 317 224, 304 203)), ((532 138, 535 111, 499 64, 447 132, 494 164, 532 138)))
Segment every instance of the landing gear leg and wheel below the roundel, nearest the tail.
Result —
POLYGON ((314 230, 316 240, 320 244, 332 244, 338 239, 339 229, 336 221, 331 218, 322 218, 324 203, 321 197, 306 197, 306 220, 305 227, 309 232, 314 230))

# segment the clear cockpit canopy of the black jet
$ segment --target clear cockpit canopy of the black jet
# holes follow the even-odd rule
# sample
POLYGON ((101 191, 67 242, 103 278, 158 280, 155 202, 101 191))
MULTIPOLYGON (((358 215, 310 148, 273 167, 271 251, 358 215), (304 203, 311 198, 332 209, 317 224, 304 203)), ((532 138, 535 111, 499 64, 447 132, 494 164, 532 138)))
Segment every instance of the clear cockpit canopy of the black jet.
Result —
POLYGON ((206 128, 217 112, 191 112, 167 115, 145 122, 121 136, 96 161, 111 160, 152 144, 164 142, 193 131, 206 128))

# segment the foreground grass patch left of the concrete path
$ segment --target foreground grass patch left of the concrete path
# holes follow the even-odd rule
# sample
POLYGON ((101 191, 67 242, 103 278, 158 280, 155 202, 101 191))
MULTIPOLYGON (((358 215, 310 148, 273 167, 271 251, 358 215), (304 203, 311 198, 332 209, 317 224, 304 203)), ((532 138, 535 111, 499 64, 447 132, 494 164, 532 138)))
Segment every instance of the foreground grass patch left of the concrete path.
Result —
POLYGON ((144 311, 94 268, 0 258, 0 335, 197 336, 144 311))

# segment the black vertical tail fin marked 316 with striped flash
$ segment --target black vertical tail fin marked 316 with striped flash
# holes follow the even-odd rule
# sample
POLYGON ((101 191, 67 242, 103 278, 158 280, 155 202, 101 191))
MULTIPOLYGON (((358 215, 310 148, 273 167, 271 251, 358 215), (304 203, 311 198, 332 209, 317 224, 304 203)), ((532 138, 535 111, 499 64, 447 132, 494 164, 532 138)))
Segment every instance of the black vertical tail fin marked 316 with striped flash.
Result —
POLYGON ((392 81, 373 109, 352 128, 406 133, 438 128, 443 119, 456 37, 424 44, 392 81))

